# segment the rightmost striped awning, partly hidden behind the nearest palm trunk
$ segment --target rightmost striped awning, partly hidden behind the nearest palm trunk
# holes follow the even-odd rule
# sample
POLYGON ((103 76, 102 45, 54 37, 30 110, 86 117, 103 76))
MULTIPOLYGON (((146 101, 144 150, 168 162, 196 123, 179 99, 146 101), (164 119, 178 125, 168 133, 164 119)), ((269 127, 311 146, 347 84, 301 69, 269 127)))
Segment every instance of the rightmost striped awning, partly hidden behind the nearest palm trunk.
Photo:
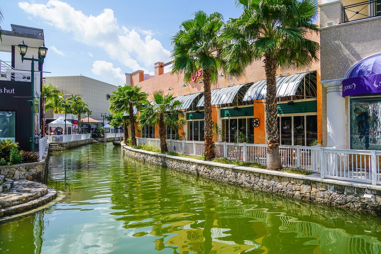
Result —
MULTIPOLYGON (((303 72, 275 78, 277 82, 277 97, 295 95, 300 82, 309 73, 311 72, 303 72)), ((266 83, 266 80, 261 80, 250 86, 245 96, 243 97, 243 101, 255 101, 265 99, 267 89, 266 83)))

